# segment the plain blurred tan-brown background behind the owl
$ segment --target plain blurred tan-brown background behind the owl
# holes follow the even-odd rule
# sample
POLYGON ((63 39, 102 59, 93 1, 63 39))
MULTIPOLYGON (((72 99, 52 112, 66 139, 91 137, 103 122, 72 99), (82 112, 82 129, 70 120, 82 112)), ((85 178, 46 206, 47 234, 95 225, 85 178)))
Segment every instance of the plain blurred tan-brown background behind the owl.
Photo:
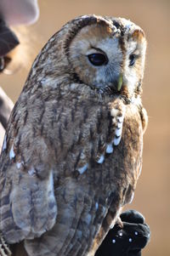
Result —
MULTIPOLYGON (((35 55, 66 21, 81 14, 121 16, 144 29, 148 50, 143 102, 149 127, 144 135, 142 174, 133 203, 127 208, 139 210, 150 225, 151 241, 143 255, 170 255, 170 0, 41 0, 39 4, 40 19, 27 31, 28 46, 35 55)), ((21 55, 24 61, 26 54, 21 55)), ((14 102, 27 73, 28 70, 20 69, 12 76, 0 77, 1 86, 14 102)))

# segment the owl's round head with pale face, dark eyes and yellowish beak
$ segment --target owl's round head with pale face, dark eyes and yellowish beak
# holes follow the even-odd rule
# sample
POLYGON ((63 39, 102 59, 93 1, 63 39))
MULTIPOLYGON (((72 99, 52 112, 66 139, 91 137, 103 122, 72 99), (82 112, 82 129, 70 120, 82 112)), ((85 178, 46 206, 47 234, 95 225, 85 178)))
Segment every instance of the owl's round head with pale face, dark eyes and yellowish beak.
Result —
POLYGON ((45 69, 49 66, 51 73, 48 63, 53 61, 62 76, 71 74, 99 92, 132 97, 141 90, 145 49, 144 31, 133 22, 86 15, 71 20, 49 40, 45 69))

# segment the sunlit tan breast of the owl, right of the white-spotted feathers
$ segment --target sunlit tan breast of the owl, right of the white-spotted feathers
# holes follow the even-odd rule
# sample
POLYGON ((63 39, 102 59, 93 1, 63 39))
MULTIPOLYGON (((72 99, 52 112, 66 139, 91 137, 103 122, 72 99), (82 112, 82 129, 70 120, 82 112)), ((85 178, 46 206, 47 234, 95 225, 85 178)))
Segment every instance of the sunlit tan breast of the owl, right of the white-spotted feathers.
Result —
POLYGON ((131 202, 142 167, 143 127, 136 105, 127 105, 120 143, 112 154, 106 154, 105 170, 110 170, 110 184, 122 195, 122 204, 131 202))

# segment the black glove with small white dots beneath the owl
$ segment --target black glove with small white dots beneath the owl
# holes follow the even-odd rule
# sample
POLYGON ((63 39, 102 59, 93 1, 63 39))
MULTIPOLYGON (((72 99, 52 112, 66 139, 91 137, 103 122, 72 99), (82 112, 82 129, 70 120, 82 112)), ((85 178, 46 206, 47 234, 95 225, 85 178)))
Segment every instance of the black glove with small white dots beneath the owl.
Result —
POLYGON ((109 231, 95 256, 140 256, 141 249, 150 240, 150 227, 144 216, 129 210, 121 214, 123 228, 115 225, 109 231))

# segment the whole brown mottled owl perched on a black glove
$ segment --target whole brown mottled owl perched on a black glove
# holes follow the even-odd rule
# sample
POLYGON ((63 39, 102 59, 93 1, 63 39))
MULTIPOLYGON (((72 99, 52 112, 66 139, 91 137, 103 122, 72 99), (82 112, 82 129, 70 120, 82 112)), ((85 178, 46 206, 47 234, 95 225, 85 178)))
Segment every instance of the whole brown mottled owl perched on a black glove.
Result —
POLYGON ((147 114, 146 40, 129 20, 84 15, 34 61, 0 158, 0 230, 29 256, 93 256, 133 199, 147 114))

